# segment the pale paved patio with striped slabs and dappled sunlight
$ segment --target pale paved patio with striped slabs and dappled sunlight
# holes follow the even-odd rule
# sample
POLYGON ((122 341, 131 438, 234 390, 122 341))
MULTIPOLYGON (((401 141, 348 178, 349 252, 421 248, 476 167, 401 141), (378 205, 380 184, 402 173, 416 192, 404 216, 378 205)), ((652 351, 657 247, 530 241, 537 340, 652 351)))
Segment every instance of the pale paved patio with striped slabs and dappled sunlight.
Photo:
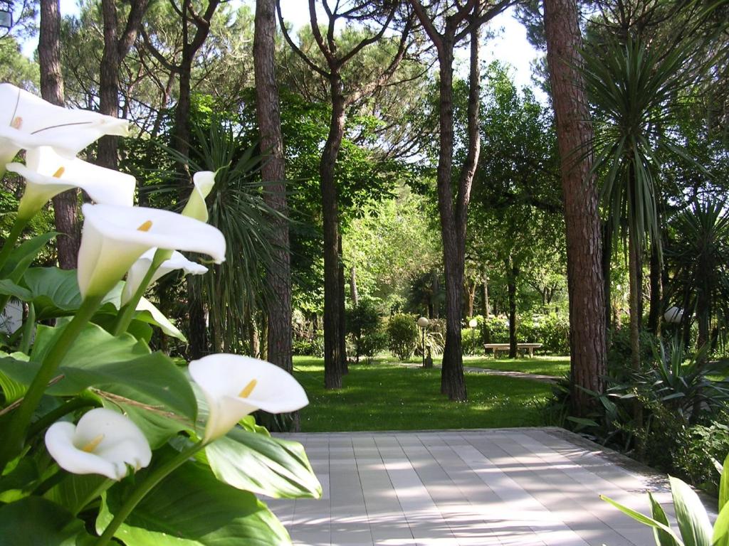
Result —
POLYGON ((598 494, 643 512, 646 491, 671 498, 659 477, 557 428, 284 436, 324 488, 268 499, 296 545, 650 546, 650 529, 598 494))

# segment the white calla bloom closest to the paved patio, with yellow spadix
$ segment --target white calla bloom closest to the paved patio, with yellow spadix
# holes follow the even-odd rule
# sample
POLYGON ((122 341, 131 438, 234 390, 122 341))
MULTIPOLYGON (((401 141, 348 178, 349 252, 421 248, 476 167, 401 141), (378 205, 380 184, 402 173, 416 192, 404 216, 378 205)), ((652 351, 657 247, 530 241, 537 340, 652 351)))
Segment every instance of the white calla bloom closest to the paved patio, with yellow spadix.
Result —
POLYGON ((193 360, 188 370, 208 402, 206 443, 224 436, 253 411, 281 414, 309 403, 290 373, 256 358, 209 355, 193 360))

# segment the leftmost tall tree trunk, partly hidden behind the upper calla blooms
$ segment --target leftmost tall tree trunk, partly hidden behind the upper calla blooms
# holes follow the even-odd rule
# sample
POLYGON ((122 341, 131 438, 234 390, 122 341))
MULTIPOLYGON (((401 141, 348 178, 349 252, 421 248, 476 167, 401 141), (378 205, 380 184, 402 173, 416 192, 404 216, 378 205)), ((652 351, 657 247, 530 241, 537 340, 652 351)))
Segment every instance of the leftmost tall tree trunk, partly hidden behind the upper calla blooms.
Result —
MULTIPOLYGON (((38 60, 41 73, 41 96, 49 103, 63 106, 61 73, 61 7, 59 0, 41 0, 38 60)), ((78 218, 78 191, 69 189, 53 197, 58 265, 74 269, 77 264, 81 233, 78 218)))

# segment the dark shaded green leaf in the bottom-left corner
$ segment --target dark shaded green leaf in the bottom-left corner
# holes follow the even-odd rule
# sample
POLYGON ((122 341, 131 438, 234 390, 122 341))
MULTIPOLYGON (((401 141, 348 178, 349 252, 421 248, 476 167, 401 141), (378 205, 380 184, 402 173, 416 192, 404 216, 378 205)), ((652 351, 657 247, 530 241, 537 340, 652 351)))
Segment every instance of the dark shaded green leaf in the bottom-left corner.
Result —
POLYGON ((28 496, 0 507, 0 546, 74 546, 89 537, 84 523, 65 508, 28 496))

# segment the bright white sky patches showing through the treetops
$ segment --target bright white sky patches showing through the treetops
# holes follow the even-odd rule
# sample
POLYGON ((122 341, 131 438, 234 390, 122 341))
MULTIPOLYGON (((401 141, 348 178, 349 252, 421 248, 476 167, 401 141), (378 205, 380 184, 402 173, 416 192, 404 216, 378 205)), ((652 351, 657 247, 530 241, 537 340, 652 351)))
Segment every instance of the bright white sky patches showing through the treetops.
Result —
MULTIPOLYGON (((254 5, 253 0, 243 0, 244 3, 254 5)), ((284 20, 292 23, 293 27, 299 28, 308 24, 308 6, 302 0, 281 0, 281 10, 284 13, 284 20)), ((79 12, 77 0, 61 0, 61 15, 74 15, 79 12)), ((513 9, 494 17, 488 23, 488 28, 496 33, 496 38, 485 41, 481 46, 480 57, 486 62, 500 60, 502 63, 512 67, 512 76, 517 87, 531 87, 531 61, 537 58, 540 53, 531 47, 526 39, 526 30, 521 23, 513 17, 513 9)), ((35 44, 28 42, 23 46, 26 54, 32 55, 35 44)), ((456 62, 467 71, 467 51, 456 55, 456 62)), ((467 72, 464 72, 467 74, 467 72)), ((539 96, 539 91, 537 96, 539 96)))

